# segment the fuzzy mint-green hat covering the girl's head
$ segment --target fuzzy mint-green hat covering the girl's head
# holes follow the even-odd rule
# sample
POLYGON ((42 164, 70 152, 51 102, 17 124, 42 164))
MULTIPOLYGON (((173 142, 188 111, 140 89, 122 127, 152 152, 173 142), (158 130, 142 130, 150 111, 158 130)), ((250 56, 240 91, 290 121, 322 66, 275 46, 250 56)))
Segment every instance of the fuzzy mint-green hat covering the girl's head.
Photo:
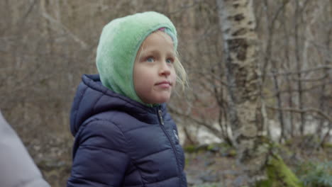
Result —
POLYGON ((96 52, 101 83, 112 91, 143 103, 133 85, 133 65, 140 45, 160 28, 170 35, 177 50, 177 31, 165 15, 149 11, 116 18, 104 26, 96 52))

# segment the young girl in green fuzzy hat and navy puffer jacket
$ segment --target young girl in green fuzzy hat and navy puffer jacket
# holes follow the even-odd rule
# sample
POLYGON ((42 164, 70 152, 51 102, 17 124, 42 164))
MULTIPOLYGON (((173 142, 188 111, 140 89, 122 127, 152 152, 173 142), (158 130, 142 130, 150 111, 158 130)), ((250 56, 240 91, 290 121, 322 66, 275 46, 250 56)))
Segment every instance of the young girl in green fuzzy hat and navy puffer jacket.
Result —
POLYGON ((96 54, 99 75, 84 75, 74 98, 75 137, 67 186, 187 186, 184 152, 167 113, 176 82, 177 31, 156 12, 108 23, 96 54))

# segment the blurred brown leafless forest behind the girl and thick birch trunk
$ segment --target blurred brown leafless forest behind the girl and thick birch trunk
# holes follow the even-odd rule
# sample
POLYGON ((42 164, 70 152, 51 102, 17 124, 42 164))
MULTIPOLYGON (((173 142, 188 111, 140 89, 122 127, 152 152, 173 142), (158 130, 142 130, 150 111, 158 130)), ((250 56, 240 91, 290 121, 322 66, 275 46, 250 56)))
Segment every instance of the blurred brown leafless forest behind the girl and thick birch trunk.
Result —
MULTIPOLYGON (((230 161, 228 146, 234 142, 218 1, 0 1, 1 112, 45 178, 52 186, 65 186, 74 140, 70 108, 82 74, 97 73, 101 29, 114 18, 142 11, 165 13, 178 30, 179 55, 190 88, 177 91, 169 110, 188 151, 190 185, 236 186, 236 173, 227 173, 228 165, 218 162, 230 161), (211 147, 213 142, 224 145, 211 147), (206 144, 208 156, 196 152, 206 144), (189 159, 197 162, 198 156, 204 163, 214 161, 194 174, 195 164, 189 159), (218 167, 211 169, 211 163, 218 167)), ((293 170, 303 163, 310 166, 308 162, 326 165, 331 162, 331 149, 326 147, 331 147, 332 128, 332 1, 255 0, 253 12, 264 106, 260 135, 292 150, 287 154, 291 156, 283 156, 296 163, 293 170)))

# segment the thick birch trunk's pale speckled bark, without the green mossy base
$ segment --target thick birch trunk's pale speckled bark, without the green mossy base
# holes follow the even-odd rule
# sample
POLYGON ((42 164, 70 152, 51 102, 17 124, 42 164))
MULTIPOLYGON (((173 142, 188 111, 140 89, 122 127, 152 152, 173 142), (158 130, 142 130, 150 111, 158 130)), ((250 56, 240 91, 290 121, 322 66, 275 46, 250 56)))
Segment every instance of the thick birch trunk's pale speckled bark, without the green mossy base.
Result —
POLYGON ((239 162, 250 177, 258 176, 266 155, 255 154, 260 110, 258 37, 255 33, 253 1, 218 0, 220 27, 226 54, 226 76, 231 105, 229 119, 238 148, 239 162), (258 156, 260 156, 258 158, 258 156))

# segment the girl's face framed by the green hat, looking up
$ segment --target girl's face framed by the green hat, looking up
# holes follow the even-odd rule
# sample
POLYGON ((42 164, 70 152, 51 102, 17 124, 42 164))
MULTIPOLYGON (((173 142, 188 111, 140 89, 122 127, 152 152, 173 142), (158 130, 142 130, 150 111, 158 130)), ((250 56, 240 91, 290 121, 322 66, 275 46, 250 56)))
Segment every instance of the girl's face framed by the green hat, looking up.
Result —
POLYGON ((133 69, 135 91, 144 103, 165 103, 170 100, 177 79, 175 59, 169 35, 156 31, 145 38, 136 55, 133 69))

